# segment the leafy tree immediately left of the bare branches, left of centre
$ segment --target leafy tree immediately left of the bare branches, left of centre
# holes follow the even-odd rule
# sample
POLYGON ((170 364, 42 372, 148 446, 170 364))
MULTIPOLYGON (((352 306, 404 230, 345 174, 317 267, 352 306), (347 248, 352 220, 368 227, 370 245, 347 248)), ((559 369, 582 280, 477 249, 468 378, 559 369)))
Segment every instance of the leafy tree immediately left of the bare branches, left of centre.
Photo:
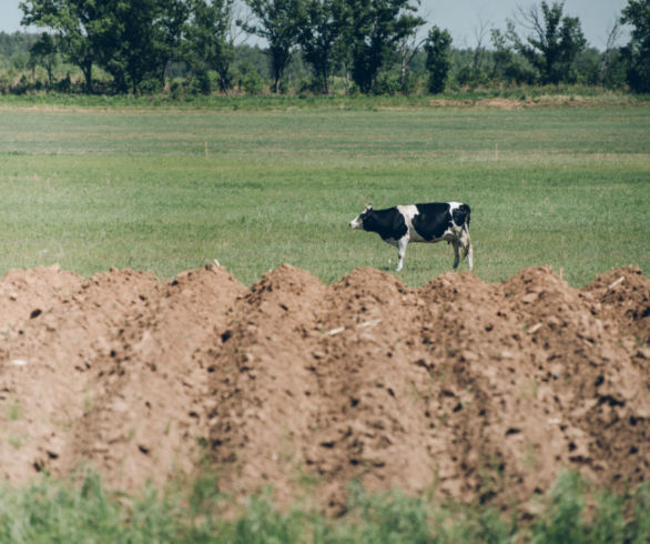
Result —
MULTIPOLYGON (((192 0, 186 28, 185 60, 203 80, 209 70, 219 74, 219 85, 227 92, 232 85, 231 64, 235 47, 231 39, 234 0, 192 0)), ((205 90, 210 85, 204 85, 205 90)))

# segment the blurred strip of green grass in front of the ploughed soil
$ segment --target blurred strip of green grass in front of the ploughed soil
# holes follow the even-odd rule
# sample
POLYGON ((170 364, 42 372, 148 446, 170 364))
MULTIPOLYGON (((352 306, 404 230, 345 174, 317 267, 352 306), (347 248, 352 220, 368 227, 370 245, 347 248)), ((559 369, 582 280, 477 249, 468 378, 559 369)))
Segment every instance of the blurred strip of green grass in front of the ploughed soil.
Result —
POLYGON ((640 544, 650 537, 650 486, 619 496, 591 488, 573 473, 558 478, 532 525, 518 524, 489 506, 425 501, 397 490, 369 493, 357 483, 351 484, 348 495, 347 513, 339 518, 297 504, 280 510, 270 491, 225 516, 228 497, 214 477, 164 493, 146 487, 141 495, 129 496, 109 492, 95 473, 87 471, 68 482, 45 476, 24 487, 4 486, 0 541, 640 544), (588 501, 596 504, 591 518, 585 515, 588 501))

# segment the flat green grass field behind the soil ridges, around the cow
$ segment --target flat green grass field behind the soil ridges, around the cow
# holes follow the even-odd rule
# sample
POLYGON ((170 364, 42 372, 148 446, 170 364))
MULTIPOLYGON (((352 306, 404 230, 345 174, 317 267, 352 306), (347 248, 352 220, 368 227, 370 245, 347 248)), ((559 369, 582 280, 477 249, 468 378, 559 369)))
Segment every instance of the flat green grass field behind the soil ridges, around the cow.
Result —
MULTIPOLYGON (((283 262, 332 282, 396 265, 347 226, 364 204, 459 200, 484 281, 551 264, 582 285, 648 271, 650 104, 3 107, 0 191, 0 273, 169 279, 217 259, 246 284, 283 262)), ((412 244, 399 276, 423 284, 451 262, 447 244, 412 244)))

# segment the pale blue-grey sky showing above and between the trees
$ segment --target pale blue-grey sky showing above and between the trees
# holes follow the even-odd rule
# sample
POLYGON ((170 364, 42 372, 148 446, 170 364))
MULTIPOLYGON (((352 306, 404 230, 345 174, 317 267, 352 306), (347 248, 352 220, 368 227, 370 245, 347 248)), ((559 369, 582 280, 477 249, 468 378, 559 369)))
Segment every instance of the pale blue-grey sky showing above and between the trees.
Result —
MULTIPOLYGON (((552 0, 551 0, 552 1, 552 0)), ((0 0, 0 31, 16 32, 22 12, 20 0, 0 0)), ((449 30, 457 48, 474 47, 481 26, 504 29, 517 7, 528 8, 540 0, 422 0, 422 14, 429 23, 449 30)), ((605 49, 607 34, 628 0, 566 0, 565 14, 580 18, 589 44, 605 49)), ((485 42, 489 44, 489 34, 485 42)))

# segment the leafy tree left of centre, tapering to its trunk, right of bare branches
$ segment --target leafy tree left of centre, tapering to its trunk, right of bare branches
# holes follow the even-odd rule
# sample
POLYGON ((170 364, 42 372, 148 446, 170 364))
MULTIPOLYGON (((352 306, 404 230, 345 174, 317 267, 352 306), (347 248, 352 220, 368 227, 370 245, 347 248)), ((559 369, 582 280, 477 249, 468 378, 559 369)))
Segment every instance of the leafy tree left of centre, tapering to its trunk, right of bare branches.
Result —
POLYGON ((244 0, 257 19, 257 24, 237 21, 246 32, 266 39, 273 75, 273 90, 280 92, 280 82, 298 38, 299 0, 244 0))

